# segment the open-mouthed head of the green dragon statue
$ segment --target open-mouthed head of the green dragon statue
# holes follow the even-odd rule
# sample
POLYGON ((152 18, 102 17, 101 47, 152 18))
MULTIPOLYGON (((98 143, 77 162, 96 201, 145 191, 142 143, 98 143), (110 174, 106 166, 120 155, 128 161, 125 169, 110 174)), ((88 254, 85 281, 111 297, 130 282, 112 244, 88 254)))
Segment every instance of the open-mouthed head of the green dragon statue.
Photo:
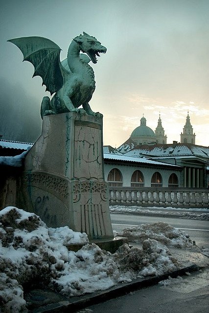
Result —
POLYGON ((77 36, 73 39, 79 45, 80 51, 87 53, 91 61, 95 64, 97 62, 96 56, 99 53, 106 53, 107 48, 101 45, 95 37, 83 32, 83 35, 77 36))

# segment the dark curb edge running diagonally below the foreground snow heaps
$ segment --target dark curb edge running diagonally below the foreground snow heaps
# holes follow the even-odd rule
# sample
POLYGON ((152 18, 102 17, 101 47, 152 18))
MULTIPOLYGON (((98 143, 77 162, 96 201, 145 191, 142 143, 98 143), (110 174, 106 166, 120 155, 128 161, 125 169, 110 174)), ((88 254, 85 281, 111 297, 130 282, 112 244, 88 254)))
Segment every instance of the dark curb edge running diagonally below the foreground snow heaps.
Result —
POLYGON ((76 296, 71 298, 64 298, 63 301, 56 303, 46 304, 42 307, 29 311, 31 313, 72 313, 78 310, 84 309, 88 306, 95 305, 118 296, 122 296, 131 291, 136 291, 148 286, 158 284, 161 280, 167 279, 168 276, 175 278, 177 276, 183 276, 186 272, 197 271, 201 268, 195 264, 186 268, 175 270, 171 273, 163 274, 157 277, 138 278, 130 283, 119 283, 118 285, 111 287, 105 291, 96 291, 91 294, 85 294, 82 296, 76 296))

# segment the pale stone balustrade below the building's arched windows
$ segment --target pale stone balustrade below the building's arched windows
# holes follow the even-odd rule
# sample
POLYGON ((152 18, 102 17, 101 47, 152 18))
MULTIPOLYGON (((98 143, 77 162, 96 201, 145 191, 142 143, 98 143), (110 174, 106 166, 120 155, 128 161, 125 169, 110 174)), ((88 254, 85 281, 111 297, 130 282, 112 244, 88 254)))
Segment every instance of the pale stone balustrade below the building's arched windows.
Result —
POLYGON ((209 189, 109 187, 110 205, 209 208, 209 189))

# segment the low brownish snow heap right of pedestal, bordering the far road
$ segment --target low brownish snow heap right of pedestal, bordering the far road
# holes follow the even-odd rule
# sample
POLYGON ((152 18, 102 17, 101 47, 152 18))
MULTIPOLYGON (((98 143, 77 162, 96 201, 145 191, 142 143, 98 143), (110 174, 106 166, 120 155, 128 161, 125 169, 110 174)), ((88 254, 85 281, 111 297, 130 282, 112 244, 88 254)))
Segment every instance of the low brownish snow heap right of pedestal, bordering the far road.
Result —
POLYGON ((139 226, 125 228, 117 233, 117 236, 127 237, 129 241, 138 243, 142 243, 144 240, 150 238, 166 246, 177 248, 193 246, 191 239, 185 231, 163 222, 141 224, 139 226))

